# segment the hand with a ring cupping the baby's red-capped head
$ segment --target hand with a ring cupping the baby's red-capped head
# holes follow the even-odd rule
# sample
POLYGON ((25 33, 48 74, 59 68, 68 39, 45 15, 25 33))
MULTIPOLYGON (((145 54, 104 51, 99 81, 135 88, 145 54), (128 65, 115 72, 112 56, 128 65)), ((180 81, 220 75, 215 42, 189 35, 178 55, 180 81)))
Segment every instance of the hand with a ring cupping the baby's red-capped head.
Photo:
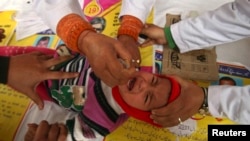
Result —
POLYGON ((181 86, 181 94, 165 107, 152 110, 151 118, 163 127, 172 127, 198 113, 204 93, 201 87, 178 76, 173 77, 181 86))

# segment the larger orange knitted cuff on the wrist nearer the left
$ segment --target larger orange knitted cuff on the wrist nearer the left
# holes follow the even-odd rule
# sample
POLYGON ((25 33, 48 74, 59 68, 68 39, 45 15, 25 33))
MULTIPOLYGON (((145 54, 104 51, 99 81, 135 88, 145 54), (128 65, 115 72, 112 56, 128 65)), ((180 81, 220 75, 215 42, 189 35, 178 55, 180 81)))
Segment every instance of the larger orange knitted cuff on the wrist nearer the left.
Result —
POLYGON ((63 17, 57 25, 57 35, 73 51, 80 52, 78 38, 84 30, 92 30, 92 25, 85 21, 80 15, 69 14, 63 17))

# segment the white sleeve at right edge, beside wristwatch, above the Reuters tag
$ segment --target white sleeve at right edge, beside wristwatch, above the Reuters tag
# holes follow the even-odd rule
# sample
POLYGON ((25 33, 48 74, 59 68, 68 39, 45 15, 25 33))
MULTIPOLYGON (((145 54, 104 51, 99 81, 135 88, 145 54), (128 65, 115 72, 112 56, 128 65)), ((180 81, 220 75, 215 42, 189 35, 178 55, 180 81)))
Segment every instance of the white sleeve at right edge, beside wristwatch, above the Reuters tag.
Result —
POLYGON ((226 117, 240 124, 250 124, 250 85, 210 86, 208 108, 214 117, 226 117))

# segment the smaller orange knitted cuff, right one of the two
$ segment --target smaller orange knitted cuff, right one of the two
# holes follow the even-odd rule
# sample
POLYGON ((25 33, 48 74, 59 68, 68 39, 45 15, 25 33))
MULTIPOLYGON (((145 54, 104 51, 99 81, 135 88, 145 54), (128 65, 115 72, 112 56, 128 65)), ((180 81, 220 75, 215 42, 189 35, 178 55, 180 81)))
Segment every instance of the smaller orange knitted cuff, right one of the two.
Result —
POLYGON ((118 30, 118 36, 129 35, 137 41, 142 27, 143 23, 138 18, 130 15, 125 15, 122 17, 121 26, 118 30))

